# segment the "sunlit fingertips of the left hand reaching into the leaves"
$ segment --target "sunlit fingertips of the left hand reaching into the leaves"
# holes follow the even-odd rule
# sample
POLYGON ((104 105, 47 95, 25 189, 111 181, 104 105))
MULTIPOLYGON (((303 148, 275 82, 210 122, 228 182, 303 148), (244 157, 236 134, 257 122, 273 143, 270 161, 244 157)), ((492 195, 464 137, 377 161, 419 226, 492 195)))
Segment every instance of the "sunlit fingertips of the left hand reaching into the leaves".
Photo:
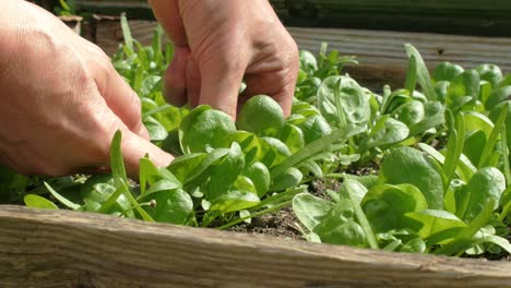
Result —
POLYGON ((126 170, 128 175, 138 179, 140 169, 140 158, 148 155, 148 158, 157 167, 166 167, 173 161, 174 157, 142 139, 140 135, 124 131, 122 135, 122 156, 124 158, 126 170))

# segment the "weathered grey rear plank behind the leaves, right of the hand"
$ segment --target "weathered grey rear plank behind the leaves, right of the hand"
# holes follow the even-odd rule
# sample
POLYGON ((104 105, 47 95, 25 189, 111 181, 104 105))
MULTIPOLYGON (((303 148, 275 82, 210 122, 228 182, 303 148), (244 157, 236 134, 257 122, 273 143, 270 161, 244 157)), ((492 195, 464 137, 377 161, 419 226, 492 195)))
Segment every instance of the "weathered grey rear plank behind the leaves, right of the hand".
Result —
POLYGON ((359 65, 346 71, 363 83, 403 85, 406 43, 417 47, 430 69, 451 61, 464 68, 494 63, 503 72, 511 72, 511 38, 341 28, 288 27, 288 31, 301 49, 317 52, 325 41, 342 55, 356 56, 359 65))

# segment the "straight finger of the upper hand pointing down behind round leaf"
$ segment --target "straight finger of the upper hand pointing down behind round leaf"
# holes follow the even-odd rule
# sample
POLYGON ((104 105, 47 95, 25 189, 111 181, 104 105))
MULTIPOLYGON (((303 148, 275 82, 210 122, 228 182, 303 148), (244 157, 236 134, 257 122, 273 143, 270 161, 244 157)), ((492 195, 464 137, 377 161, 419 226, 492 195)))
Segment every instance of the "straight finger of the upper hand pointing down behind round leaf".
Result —
POLYGON ((247 67, 242 61, 209 61, 200 68, 199 105, 210 105, 236 119, 239 87, 247 67))

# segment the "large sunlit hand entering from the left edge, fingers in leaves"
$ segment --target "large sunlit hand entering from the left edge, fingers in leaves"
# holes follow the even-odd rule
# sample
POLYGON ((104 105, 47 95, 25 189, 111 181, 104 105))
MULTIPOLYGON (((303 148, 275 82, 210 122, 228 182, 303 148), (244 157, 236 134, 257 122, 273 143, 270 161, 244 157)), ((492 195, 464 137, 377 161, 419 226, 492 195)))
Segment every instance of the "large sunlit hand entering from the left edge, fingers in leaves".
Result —
POLYGON ((110 142, 123 132, 127 170, 151 144, 140 100, 95 45, 28 2, 0 3, 0 164, 23 173, 60 176, 108 167, 110 142))

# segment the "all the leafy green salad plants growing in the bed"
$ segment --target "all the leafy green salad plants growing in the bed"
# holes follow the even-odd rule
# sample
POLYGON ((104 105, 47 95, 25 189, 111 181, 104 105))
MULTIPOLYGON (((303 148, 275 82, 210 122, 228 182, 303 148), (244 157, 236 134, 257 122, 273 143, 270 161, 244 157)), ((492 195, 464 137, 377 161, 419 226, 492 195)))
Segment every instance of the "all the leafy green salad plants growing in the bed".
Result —
POLYGON ((404 88, 384 86, 379 95, 341 73, 353 58, 323 45, 319 56, 300 51, 289 117, 258 95, 234 122, 207 106, 166 104, 162 75, 173 48, 162 47, 162 28, 143 47, 126 19, 122 27, 126 44, 114 65, 141 97, 153 143, 176 159, 158 168, 142 158, 136 184, 127 178, 117 132, 111 173, 47 179, 2 168, 0 188, 10 192, 3 202, 221 229, 292 205, 309 241, 447 255, 511 252, 511 76, 498 67, 445 62, 431 79, 406 45, 404 88), (375 172, 349 175, 367 167, 375 172), (321 178, 342 185, 328 199, 307 193, 321 178))

